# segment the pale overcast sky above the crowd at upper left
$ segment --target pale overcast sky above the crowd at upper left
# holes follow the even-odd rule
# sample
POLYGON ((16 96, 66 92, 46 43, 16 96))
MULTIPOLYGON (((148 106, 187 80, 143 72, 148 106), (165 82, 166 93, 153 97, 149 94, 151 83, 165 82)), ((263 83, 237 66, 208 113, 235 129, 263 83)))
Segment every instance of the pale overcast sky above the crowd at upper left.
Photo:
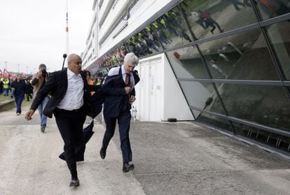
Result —
MULTIPOLYGON (((92 21, 93 0, 68 0, 69 53, 81 55, 92 21)), ((67 53, 66 0, 1 0, 0 69, 35 73, 62 68, 67 53), (7 62, 5 64, 5 62, 7 62)), ((66 63, 65 65, 66 66, 66 63)))

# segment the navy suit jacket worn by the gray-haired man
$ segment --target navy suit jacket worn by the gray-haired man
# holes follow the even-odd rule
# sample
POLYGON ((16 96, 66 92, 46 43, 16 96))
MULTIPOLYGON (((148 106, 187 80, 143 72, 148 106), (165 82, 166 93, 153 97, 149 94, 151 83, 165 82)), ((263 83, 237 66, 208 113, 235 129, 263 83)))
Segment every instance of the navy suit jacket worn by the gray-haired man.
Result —
MULTIPOLYGON (((133 71, 135 85, 140 78, 137 71, 133 71)), ((130 95, 135 95, 135 89, 130 94, 125 93, 125 82, 123 80, 121 68, 118 75, 107 76, 103 85, 102 92, 105 95, 104 117, 118 117, 120 113, 129 112, 131 104, 130 95)))

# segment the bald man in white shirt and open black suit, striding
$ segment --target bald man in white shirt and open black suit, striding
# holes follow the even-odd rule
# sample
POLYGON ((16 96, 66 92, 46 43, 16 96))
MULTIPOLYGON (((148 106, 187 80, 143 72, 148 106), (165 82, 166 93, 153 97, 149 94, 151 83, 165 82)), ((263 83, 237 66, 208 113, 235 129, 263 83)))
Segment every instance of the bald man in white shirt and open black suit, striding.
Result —
POLYGON ((48 81, 35 97, 25 119, 31 120, 34 111, 41 101, 51 92, 43 114, 47 117, 55 115, 57 127, 64 140, 64 156, 71 173, 70 187, 80 185, 76 171, 75 149, 83 142, 83 124, 85 122, 85 106, 90 103, 90 92, 99 90, 97 85, 88 85, 85 74, 81 71, 81 57, 69 55, 67 68, 50 73, 48 81))

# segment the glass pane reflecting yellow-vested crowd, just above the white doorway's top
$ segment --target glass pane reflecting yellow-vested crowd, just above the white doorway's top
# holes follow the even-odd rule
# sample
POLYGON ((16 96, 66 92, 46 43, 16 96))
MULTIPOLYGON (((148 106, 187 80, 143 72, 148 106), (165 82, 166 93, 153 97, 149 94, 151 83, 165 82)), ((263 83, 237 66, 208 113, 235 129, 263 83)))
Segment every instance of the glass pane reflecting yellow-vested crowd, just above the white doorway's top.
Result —
POLYGON ((179 8, 167 11, 152 23, 164 48, 173 48, 193 41, 179 8))

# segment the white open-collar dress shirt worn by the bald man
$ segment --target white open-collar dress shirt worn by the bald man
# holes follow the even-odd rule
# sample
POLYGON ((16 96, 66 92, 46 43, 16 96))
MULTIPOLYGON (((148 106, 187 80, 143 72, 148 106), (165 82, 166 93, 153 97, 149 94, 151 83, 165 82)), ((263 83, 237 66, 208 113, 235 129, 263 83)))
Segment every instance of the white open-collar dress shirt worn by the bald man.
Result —
POLYGON ((83 106, 83 78, 67 68, 67 93, 57 108, 64 110, 77 110, 83 106))

